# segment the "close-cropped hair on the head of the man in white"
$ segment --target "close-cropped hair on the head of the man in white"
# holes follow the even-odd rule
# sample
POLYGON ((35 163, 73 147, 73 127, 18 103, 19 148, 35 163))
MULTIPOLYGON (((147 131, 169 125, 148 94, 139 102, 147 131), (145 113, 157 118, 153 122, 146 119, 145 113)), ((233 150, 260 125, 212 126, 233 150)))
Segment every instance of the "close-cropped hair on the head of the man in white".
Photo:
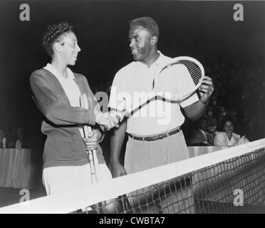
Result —
POLYGON ((159 38, 159 27, 157 22, 149 16, 142 16, 130 21, 130 28, 135 26, 142 26, 142 28, 150 32, 151 36, 157 36, 157 39, 159 38))

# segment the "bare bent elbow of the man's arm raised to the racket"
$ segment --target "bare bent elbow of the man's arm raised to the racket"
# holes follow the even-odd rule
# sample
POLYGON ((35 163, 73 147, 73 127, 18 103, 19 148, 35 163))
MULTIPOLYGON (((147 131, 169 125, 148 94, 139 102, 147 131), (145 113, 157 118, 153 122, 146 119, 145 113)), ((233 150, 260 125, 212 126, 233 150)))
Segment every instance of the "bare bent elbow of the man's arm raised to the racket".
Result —
POLYGON ((190 120, 198 120, 199 118, 204 115, 205 111, 207 110, 207 104, 202 103, 201 100, 193 103, 184 108, 187 118, 190 120))

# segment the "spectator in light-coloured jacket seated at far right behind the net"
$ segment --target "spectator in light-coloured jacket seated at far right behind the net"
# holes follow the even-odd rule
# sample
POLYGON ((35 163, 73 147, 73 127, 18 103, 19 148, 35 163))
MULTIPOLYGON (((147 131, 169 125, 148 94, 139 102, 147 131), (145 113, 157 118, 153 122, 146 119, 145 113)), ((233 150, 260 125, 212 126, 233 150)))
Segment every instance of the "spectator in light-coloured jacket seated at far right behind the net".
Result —
POLYGON ((234 124, 232 119, 224 120, 224 132, 219 132, 214 137, 214 145, 239 145, 249 142, 247 138, 240 137, 240 135, 234 133, 234 124))

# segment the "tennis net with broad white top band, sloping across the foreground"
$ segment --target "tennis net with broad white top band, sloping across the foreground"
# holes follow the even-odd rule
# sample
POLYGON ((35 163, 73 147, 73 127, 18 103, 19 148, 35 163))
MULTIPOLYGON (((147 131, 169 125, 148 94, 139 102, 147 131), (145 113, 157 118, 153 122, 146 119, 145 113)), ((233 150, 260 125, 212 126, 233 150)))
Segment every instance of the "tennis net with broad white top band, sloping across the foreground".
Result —
POLYGON ((71 212, 265 213, 265 139, 0 208, 71 212))

